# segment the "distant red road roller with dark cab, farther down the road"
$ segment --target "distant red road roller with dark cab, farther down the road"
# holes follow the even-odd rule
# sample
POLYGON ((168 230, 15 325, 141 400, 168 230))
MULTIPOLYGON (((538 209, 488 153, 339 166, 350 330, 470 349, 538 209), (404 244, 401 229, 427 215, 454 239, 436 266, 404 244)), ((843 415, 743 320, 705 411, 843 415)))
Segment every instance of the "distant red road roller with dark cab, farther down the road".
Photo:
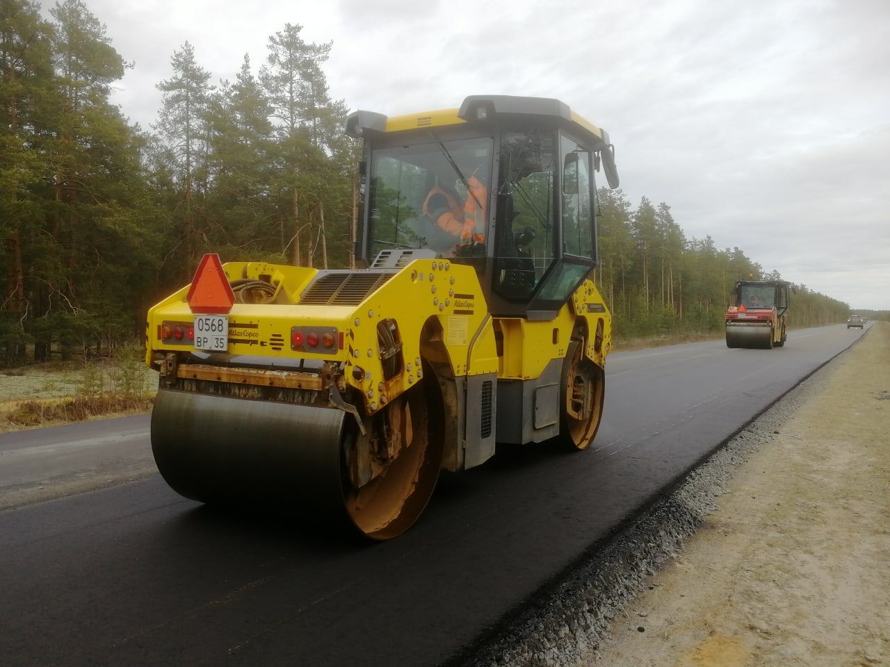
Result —
POLYGON ((772 350, 787 339, 787 280, 739 280, 735 303, 726 310, 726 347, 772 350))

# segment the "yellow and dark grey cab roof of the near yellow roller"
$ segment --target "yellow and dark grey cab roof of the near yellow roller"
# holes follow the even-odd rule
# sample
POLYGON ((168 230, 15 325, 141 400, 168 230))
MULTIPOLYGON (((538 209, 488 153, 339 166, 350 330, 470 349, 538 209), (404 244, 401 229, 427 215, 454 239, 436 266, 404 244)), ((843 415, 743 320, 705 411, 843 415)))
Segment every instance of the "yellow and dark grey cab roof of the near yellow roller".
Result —
POLYGON ((470 95, 460 108, 423 111, 405 116, 387 117, 373 111, 354 111, 346 119, 346 134, 362 137, 373 133, 398 133, 425 127, 480 123, 503 117, 552 119, 579 134, 579 138, 593 141, 597 149, 610 144, 609 134, 603 128, 580 117, 565 102, 546 97, 513 95, 470 95))

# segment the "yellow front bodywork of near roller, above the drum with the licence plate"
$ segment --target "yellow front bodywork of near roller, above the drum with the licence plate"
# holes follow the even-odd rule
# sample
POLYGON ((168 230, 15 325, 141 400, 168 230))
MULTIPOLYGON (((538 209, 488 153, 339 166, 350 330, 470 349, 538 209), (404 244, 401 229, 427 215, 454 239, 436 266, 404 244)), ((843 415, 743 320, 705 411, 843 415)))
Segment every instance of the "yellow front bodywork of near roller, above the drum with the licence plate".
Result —
MULTIPOLYGON (((272 283, 287 295, 287 300, 294 301, 289 304, 235 303, 228 315, 227 353, 344 362, 347 368, 358 367, 362 371, 360 377, 347 372, 345 383, 360 390, 368 414, 409 390, 422 377, 423 372, 417 367, 423 356, 422 332, 431 319, 441 329, 451 374, 498 372, 498 350, 491 318, 478 277, 470 267, 450 261, 412 261, 354 306, 301 303, 301 292, 319 273, 317 269, 244 262, 227 263, 223 269, 230 280, 271 277, 272 283), (384 320, 396 323, 401 355, 405 359, 403 372, 388 379, 384 379, 377 331, 377 325, 384 320), (343 334, 343 345, 327 352, 295 350, 291 344, 295 326, 333 328, 343 334)), ((162 338, 161 333, 165 325, 192 325, 194 314, 185 301, 188 289, 183 287, 149 310, 146 361, 151 367, 160 366, 160 354, 198 351, 192 342, 174 342, 162 338)), ((232 370, 228 377, 237 378, 238 374, 239 371, 232 370)))

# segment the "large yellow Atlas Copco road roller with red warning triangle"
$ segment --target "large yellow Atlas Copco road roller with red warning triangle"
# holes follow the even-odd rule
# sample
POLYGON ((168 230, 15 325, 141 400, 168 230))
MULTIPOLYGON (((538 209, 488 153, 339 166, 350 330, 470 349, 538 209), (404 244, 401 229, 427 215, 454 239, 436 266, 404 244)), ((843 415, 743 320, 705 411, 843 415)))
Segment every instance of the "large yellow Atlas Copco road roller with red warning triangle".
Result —
POLYGON ((559 100, 357 111, 346 133, 359 268, 206 255, 148 314, 151 446, 184 496, 386 540, 496 442, 590 445, 611 345, 595 174, 619 176, 609 135, 559 100))

